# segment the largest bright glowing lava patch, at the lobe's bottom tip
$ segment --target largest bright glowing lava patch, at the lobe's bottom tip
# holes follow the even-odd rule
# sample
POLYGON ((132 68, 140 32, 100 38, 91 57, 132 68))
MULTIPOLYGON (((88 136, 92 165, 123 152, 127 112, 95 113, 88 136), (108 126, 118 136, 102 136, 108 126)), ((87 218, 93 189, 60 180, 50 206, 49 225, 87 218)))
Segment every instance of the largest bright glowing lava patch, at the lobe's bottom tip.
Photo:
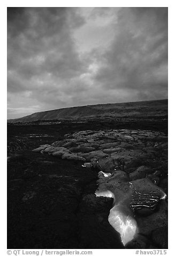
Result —
POLYGON ((111 226, 120 233, 121 241, 124 245, 134 238, 136 221, 130 215, 126 215, 121 211, 119 205, 115 205, 115 207, 110 210, 108 221, 111 226))

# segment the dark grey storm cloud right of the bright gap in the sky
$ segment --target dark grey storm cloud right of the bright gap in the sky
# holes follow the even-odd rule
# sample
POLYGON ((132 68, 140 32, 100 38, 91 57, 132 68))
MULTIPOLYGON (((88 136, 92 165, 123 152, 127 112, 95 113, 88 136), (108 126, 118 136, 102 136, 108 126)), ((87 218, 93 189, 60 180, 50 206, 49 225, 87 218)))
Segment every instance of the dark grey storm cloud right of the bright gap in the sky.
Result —
POLYGON ((121 9, 103 60, 95 79, 104 88, 133 89, 140 99, 167 97, 168 8, 121 9))

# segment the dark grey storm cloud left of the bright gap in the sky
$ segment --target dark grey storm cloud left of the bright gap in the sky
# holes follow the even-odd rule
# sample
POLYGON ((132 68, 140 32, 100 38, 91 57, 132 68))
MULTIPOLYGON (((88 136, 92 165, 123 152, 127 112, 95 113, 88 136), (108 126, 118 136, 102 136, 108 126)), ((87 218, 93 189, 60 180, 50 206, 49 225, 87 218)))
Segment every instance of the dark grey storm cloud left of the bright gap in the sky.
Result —
POLYGON ((80 60, 70 36, 72 27, 83 23, 76 9, 22 8, 16 15, 13 10, 9 11, 9 91, 26 90, 28 82, 45 75, 69 79, 83 72, 86 65, 80 60))

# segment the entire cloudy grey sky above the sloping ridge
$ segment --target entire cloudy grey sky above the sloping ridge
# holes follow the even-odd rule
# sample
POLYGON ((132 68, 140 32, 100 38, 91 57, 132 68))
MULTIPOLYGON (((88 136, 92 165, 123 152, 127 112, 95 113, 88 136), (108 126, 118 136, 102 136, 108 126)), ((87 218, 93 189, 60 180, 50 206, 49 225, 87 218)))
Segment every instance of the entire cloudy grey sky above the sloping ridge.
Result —
POLYGON ((7 8, 7 118, 168 98, 168 8, 7 8))

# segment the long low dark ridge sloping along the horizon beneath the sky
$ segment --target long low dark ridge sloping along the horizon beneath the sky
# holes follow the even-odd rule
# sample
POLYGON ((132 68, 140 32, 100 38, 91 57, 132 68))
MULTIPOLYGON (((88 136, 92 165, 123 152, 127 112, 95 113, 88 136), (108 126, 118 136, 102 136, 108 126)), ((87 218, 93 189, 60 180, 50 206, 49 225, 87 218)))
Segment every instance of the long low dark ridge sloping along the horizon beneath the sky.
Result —
MULTIPOLYGON (((70 119, 70 118, 86 118, 86 117, 95 117, 95 116, 111 116, 111 117, 121 117, 127 113, 129 116, 138 116, 138 111, 145 116, 146 113, 150 113, 150 104, 156 105, 156 111, 158 110, 159 113, 157 115, 161 115, 161 111, 163 112, 168 111, 168 99, 156 99, 156 100, 146 100, 146 101, 133 101, 133 102, 120 102, 120 103, 100 103, 100 104, 93 104, 93 105, 81 105, 81 106, 71 106, 66 108, 60 108, 60 109, 53 109, 53 110, 45 110, 45 111, 39 111, 34 112, 30 115, 14 118, 14 119, 7 119, 7 122, 20 122, 20 121, 36 121, 36 120, 54 120, 54 119, 70 119), (162 104, 160 104, 162 103, 162 104), (128 106, 130 104, 130 106, 128 106), (167 105, 167 106, 166 106, 167 105), (108 108, 108 106, 111 106, 111 108, 108 108), (115 108, 116 106, 116 108, 115 108), (83 111, 85 110, 85 107, 88 108, 91 111, 83 111), (103 109, 101 111, 100 107, 103 109), (142 111, 140 111, 139 108, 142 107, 142 111), (123 110, 122 110, 123 108, 123 110), (134 108, 134 109, 132 109, 134 108), (145 111, 147 108, 148 110, 145 111), (162 109, 163 108, 163 109, 162 109), (79 111, 70 111, 70 113, 67 113, 66 110, 79 110, 79 111), (83 109, 83 110, 82 110, 83 109), (112 112, 111 112, 112 111, 112 112), (134 113, 134 111, 136 111, 134 113), (54 113, 55 115, 44 115, 44 113, 54 113), (64 112, 64 113, 63 113, 64 112)), ((152 107, 153 107, 152 105, 152 107)), ((155 111, 154 111, 155 112, 155 111)), ((166 114, 168 115, 168 113, 166 114)), ((147 115, 146 115, 147 116, 147 115)), ((164 115, 163 115, 164 116, 164 115)))

